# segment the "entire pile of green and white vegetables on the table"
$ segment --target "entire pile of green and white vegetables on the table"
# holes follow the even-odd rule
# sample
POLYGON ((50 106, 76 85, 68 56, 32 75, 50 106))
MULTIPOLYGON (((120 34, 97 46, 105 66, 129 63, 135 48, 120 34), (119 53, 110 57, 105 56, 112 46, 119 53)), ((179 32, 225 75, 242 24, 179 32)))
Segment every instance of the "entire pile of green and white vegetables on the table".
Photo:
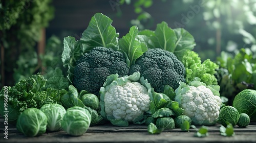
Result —
MULTIPOLYGON (((233 107, 223 104, 225 78, 231 73, 232 80, 238 80, 234 67, 244 69, 249 63, 238 58, 247 56, 240 53, 232 62, 235 66, 225 70, 231 59, 228 64, 201 61, 193 51, 194 37, 182 28, 169 28, 166 22, 155 31, 132 26, 119 39, 111 24, 109 17, 96 13, 80 39, 64 38, 61 60, 67 78, 56 68, 47 79, 37 74, 8 87, 9 120, 18 118, 20 132, 37 136, 64 130, 80 136, 91 126, 111 123, 143 124, 150 134, 194 128, 195 136, 205 137, 207 126, 219 123, 221 135, 232 136, 233 126, 255 121, 255 90, 238 93, 233 107), (33 123, 31 130, 21 124, 26 118, 33 123)), ((239 81, 252 82, 254 65, 250 65, 247 80, 239 81)), ((2 89, 0 114, 5 100, 2 89)))

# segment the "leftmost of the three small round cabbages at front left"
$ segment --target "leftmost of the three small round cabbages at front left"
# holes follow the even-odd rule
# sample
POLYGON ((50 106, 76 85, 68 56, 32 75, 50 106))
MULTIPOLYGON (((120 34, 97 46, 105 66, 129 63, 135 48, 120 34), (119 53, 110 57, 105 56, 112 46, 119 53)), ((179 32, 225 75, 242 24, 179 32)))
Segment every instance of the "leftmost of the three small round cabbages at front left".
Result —
POLYGON ((28 108, 18 116, 16 128, 24 135, 33 137, 46 132, 47 116, 37 108, 28 108))

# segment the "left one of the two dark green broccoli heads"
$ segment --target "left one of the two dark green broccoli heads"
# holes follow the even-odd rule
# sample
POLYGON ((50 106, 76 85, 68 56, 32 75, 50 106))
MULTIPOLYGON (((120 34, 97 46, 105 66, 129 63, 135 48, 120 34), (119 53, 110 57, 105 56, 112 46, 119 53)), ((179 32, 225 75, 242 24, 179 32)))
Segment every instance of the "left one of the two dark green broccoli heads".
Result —
POLYGON ((119 51, 106 47, 94 47, 77 61, 73 84, 78 91, 87 90, 97 95, 107 76, 128 75, 129 67, 125 61, 124 55, 119 51))

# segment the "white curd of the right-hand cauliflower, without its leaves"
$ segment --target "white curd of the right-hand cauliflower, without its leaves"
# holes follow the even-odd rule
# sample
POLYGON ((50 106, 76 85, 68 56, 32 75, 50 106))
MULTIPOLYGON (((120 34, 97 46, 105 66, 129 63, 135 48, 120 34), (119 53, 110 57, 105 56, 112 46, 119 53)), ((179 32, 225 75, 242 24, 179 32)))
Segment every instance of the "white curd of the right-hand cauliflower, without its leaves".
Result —
POLYGON ((183 114, 191 118, 193 125, 216 124, 222 101, 212 90, 214 89, 199 85, 186 86, 175 91, 175 101, 179 102, 184 109, 183 114))

